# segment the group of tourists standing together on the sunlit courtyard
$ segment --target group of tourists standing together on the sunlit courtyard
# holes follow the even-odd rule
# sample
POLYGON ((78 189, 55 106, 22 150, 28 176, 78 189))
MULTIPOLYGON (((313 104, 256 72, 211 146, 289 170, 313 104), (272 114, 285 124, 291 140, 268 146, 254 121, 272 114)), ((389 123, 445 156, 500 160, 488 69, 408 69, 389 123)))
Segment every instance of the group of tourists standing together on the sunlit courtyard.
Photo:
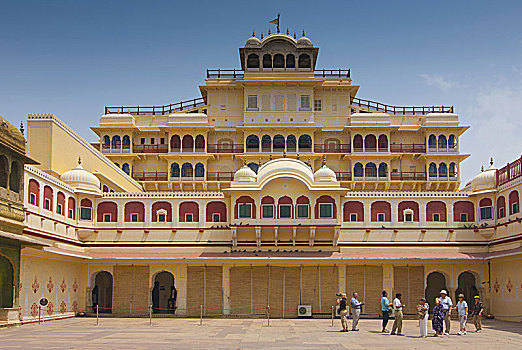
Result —
MULTIPOLYGON (((341 316, 341 325, 343 329, 341 332, 348 332, 348 301, 346 294, 340 293, 337 303, 339 305, 338 311, 341 316)), ((395 294, 395 299, 392 302, 388 299, 388 293, 384 290, 381 298, 381 311, 382 311, 382 333, 389 333, 386 329, 390 314, 393 312, 395 315, 391 333, 392 335, 404 335, 402 333, 402 320, 403 320, 403 308, 406 306, 402 303, 401 293, 395 294)), ((435 299, 435 305, 432 310, 432 328, 435 331, 434 336, 449 335, 451 328, 451 312, 456 310, 459 316, 460 329, 458 335, 467 334, 466 323, 468 321, 469 306, 466 300, 464 300, 464 294, 458 295, 459 301, 454 306, 451 298, 448 296, 446 290, 440 291, 440 297, 435 299)), ((473 324, 475 325, 475 332, 480 333, 482 331, 482 312, 484 306, 480 301, 478 295, 474 296, 475 304, 473 305, 471 315, 473 317, 473 324)), ((353 297, 350 300, 350 308, 352 310, 352 331, 358 331, 357 325, 359 324, 359 318, 361 315, 362 306, 364 303, 358 300, 357 293, 353 293, 353 297)), ((428 336, 428 320, 430 316, 430 305, 426 302, 425 298, 420 298, 417 304, 417 317, 419 319, 420 336, 425 338, 428 336)))

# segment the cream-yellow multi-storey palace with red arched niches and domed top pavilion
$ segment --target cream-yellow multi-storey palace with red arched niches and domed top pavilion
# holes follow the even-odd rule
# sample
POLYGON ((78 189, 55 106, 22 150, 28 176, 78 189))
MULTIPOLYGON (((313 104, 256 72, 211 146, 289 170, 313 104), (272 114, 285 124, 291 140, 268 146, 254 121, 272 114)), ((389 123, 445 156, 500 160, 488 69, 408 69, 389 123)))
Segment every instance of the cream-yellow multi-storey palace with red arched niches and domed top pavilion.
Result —
POLYGON ((415 313, 448 289, 520 321, 522 158, 461 185, 452 106, 359 98, 318 54, 304 33, 252 36, 199 98, 105 107, 92 144, 30 114, 20 320, 42 297, 46 318, 320 317, 339 291, 378 315, 383 289, 415 313))

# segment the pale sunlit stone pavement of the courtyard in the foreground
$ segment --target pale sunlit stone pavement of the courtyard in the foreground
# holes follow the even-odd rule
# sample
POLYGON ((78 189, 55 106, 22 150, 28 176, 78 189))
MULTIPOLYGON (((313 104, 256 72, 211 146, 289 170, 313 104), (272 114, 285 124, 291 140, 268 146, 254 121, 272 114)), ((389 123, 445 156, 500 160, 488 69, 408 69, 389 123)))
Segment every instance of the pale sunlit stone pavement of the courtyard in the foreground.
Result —
MULTIPOLYGON (((0 329, 2 349, 522 349, 522 325, 484 322, 482 333, 419 338, 407 320, 406 336, 381 334, 380 320, 363 319, 359 332, 340 333, 327 319, 270 320, 73 318, 0 329)), ((391 327, 391 323, 390 323, 391 327)), ((474 329, 473 326, 470 327, 474 329)), ((458 323, 453 322, 453 332, 458 323)))

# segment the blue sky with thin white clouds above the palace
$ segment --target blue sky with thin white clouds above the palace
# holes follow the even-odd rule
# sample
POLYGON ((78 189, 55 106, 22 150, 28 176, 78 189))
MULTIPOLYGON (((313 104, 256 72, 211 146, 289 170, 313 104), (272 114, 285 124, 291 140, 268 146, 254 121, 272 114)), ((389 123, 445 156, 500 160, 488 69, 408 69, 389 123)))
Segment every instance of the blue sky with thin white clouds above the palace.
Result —
POLYGON ((206 69, 239 68, 277 13, 359 97, 455 106, 463 183, 522 155, 522 1, 0 0, 0 115, 54 113, 96 141, 105 105, 199 97, 206 69))

